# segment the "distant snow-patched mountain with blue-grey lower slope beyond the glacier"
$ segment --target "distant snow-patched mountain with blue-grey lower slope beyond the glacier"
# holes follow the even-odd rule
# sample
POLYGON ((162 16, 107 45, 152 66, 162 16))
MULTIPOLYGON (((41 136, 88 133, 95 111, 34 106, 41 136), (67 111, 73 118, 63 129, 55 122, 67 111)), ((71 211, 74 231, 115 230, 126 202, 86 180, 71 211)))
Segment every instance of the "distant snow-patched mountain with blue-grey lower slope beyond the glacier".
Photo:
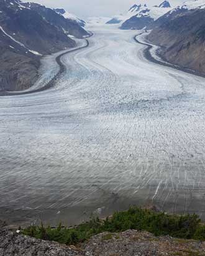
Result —
POLYGON ((121 25, 121 29, 143 29, 144 27, 149 29, 155 20, 170 10, 171 6, 168 1, 163 1, 159 6, 148 7, 146 4, 144 6, 137 6, 137 10, 135 9, 134 11, 135 15, 127 19, 121 25))

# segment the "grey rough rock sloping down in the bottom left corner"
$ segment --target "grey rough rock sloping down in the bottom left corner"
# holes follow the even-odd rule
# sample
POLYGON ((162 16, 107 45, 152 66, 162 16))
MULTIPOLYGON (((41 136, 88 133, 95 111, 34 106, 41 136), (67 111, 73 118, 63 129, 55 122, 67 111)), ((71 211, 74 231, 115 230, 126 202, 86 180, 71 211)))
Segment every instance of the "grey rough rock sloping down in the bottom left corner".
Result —
POLYGON ((0 256, 82 256, 81 250, 66 245, 25 237, 0 229, 0 256))

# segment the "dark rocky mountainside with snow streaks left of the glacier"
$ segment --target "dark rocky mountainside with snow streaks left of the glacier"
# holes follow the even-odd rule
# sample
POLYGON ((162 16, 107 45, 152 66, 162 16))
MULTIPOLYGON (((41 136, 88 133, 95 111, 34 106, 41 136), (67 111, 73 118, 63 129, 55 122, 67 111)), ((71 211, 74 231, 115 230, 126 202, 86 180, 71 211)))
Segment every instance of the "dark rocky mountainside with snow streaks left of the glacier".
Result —
MULTIPOLYGON (((46 19, 49 15, 45 16, 32 6, 35 4, 0 0, 1 93, 29 88, 37 79, 42 55, 75 46, 75 41, 67 35, 69 30, 64 31, 68 20, 52 10, 60 17, 59 23, 57 17, 53 21, 51 17, 46 19), (62 20, 65 20, 65 27, 63 22, 60 23, 62 20)), ((46 12, 45 7, 42 9, 46 12)), ((73 34, 82 37, 88 34, 80 25, 78 28, 72 30, 73 34), (81 30, 83 34, 80 34, 81 30)))

